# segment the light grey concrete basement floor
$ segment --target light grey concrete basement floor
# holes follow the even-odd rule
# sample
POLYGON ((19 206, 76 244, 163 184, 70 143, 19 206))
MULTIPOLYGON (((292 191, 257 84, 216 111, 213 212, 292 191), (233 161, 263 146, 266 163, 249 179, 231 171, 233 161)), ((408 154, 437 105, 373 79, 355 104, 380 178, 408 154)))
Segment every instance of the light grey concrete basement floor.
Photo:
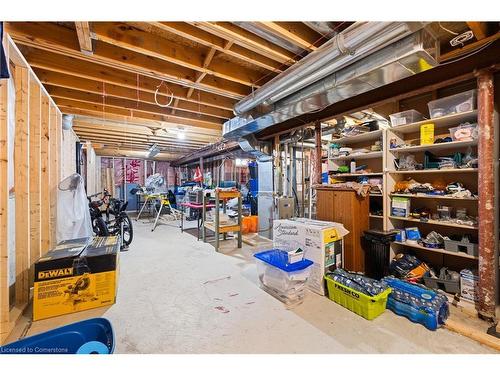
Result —
POLYGON ((235 244, 226 241, 227 253, 216 253, 176 223, 154 232, 145 220, 134 224, 115 305, 31 325, 25 317, 11 339, 103 316, 116 353, 498 353, 389 310, 367 321, 312 292, 287 310, 258 286, 252 254, 263 246, 230 251, 235 244))

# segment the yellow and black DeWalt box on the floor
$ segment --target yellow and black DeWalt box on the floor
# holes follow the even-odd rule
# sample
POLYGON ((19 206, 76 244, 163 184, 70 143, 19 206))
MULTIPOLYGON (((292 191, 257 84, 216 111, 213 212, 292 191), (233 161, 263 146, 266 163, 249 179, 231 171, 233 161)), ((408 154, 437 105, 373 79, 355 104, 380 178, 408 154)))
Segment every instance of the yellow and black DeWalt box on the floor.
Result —
POLYGON ((114 304, 119 253, 118 237, 79 238, 38 259, 33 320, 114 304))

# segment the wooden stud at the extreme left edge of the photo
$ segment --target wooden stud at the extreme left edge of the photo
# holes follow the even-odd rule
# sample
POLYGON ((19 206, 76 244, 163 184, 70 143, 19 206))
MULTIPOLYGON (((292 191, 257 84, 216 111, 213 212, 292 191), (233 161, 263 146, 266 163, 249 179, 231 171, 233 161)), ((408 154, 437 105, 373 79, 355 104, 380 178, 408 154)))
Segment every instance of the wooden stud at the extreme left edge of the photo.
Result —
POLYGON ((6 79, 0 80, 0 344, 5 341, 9 334, 9 251, 7 241, 9 215, 8 82, 6 79))

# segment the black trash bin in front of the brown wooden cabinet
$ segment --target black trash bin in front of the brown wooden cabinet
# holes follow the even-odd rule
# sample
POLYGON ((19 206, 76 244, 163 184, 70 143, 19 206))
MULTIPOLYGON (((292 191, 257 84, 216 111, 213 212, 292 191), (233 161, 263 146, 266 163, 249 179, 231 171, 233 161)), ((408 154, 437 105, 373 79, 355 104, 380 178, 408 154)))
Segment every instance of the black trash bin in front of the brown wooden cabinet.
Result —
POLYGON ((368 245, 365 253, 365 274, 380 280, 389 275, 390 245, 396 237, 396 232, 370 229, 363 234, 368 245))

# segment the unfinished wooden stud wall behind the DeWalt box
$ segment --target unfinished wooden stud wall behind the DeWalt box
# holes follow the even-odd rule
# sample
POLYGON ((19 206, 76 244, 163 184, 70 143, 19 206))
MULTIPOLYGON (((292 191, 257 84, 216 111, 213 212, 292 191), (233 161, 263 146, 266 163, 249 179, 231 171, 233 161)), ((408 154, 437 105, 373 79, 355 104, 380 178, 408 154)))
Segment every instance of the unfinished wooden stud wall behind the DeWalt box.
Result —
POLYGON ((33 264, 56 242, 60 180, 61 112, 8 37, 9 80, 0 80, 0 345, 28 306, 33 264), (15 98, 14 98, 15 95, 15 98), (13 113, 9 102, 15 101, 13 113), (9 131, 9 118, 15 130, 9 131), (9 140, 13 139, 13 158, 9 140), (14 169, 15 210, 9 212, 9 167, 14 169), (15 227, 15 298, 9 297, 9 232, 15 227))

